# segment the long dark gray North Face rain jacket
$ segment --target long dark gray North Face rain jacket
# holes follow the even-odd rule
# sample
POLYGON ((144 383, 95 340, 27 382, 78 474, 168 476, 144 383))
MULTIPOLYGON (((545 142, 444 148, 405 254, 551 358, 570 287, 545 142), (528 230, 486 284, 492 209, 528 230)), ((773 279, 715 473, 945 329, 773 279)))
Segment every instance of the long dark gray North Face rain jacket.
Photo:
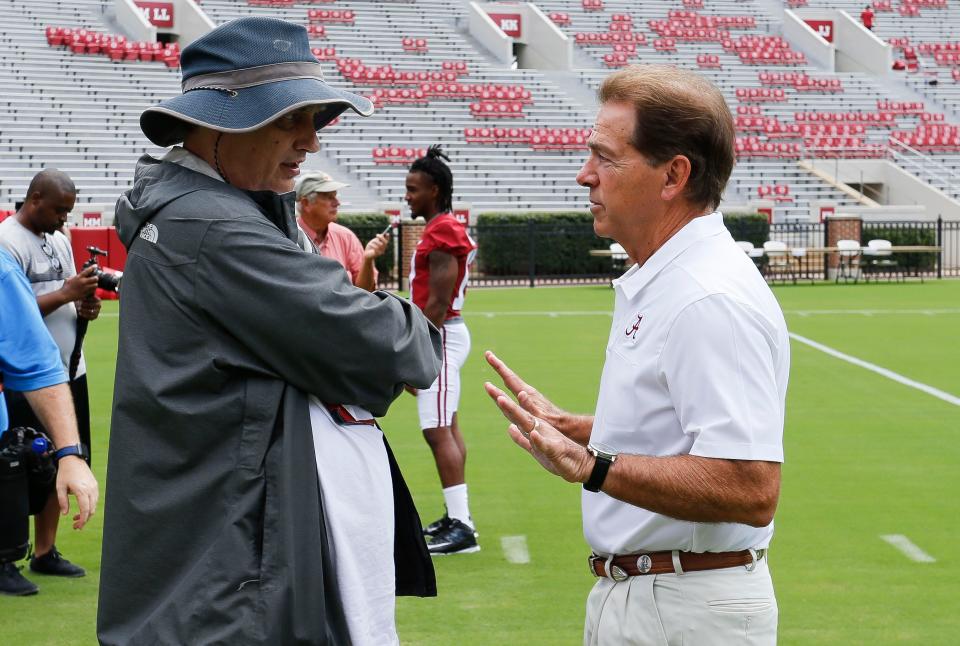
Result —
MULTIPOLYGON (((433 382, 441 344, 409 302, 298 248, 292 206, 149 156, 117 204, 102 644, 349 644, 307 393, 381 416, 433 382)), ((397 592, 435 595, 390 460, 397 592)))

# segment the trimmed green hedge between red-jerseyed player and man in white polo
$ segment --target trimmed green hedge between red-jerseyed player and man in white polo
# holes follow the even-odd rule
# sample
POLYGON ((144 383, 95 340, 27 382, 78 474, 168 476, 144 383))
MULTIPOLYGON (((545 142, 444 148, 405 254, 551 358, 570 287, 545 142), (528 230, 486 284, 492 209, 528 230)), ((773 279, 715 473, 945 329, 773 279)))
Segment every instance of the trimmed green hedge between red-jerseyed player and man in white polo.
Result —
POLYGON ((586 211, 481 213, 474 231, 477 268, 487 276, 525 276, 531 263, 538 276, 610 273, 610 258, 590 250, 611 241, 597 237, 586 211))

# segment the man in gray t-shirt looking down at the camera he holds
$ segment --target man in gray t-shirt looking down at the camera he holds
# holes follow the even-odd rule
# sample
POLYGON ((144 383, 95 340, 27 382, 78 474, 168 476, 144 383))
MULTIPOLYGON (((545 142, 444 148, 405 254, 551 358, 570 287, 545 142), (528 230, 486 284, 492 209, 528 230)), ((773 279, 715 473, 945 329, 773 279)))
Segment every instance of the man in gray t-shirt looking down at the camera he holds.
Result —
MULTIPOLYGON (((100 314, 100 299, 94 293, 96 268, 88 267, 77 274, 70 241, 60 231, 76 198, 77 189, 66 173, 43 170, 30 182, 24 204, 16 215, 0 222, 0 248, 10 253, 26 274, 43 322, 60 350, 64 370, 70 365, 70 354, 77 339, 77 318, 93 320, 100 314)), ((80 442, 86 449, 85 459, 89 464, 90 410, 82 354, 76 375, 68 377, 80 442)), ((7 406, 11 427, 48 430, 37 419, 27 398, 12 392, 9 385, 7 406)), ((44 510, 34 517, 34 555, 30 569, 54 576, 83 576, 86 574, 83 568, 63 558, 56 548, 57 510, 57 499, 51 495, 44 510)))

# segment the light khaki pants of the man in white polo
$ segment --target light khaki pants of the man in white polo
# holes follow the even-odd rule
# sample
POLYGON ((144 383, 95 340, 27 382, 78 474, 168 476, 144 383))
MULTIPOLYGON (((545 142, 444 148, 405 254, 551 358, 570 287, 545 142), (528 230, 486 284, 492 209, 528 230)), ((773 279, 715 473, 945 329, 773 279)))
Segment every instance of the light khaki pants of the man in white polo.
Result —
POLYGON ((777 599, 767 568, 599 579, 587 597, 584 646, 729 646, 777 643, 777 599))

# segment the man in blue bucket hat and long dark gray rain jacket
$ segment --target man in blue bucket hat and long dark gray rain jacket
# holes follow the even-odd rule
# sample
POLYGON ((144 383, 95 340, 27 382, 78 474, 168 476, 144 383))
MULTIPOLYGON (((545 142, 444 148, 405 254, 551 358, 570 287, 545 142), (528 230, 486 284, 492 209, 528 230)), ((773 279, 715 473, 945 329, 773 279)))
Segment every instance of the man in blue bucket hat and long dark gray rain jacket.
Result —
MULTIPOLYGON (((140 126, 157 145, 183 146, 141 158, 116 210, 128 258, 98 638, 395 643, 392 613, 382 632, 354 632, 362 592, 344 584, 340 547, 357 548, 336 543, 343 516, 329 515, 340 501, 328 500, 320 458, 339 458, 343 477, 376 471, 382 484, 386 474, 395 569, 361 583, 434 595, 413 501, 385 443, 368 462, 342 456, 343 445, 315 441, 315 417, 323 408, 324 423, 353 437, 351 425, 368 420, 350 412, 382 416, 404 384, 436 378, 440 339, 415 307, 356 289, 338 263, 303 253, 293 217, 316 131, 372 106, 327 85, 306 30, 280 20, 226 23, 186 47, 181 65, 183 94, 147 109, 140 126), (314 277, 306 288, 304 276, 314 277), (352 406, 328 404, 328 414, 319 402, 352 406)), ((355 510, 381 520, 367 513, 355 510)))

